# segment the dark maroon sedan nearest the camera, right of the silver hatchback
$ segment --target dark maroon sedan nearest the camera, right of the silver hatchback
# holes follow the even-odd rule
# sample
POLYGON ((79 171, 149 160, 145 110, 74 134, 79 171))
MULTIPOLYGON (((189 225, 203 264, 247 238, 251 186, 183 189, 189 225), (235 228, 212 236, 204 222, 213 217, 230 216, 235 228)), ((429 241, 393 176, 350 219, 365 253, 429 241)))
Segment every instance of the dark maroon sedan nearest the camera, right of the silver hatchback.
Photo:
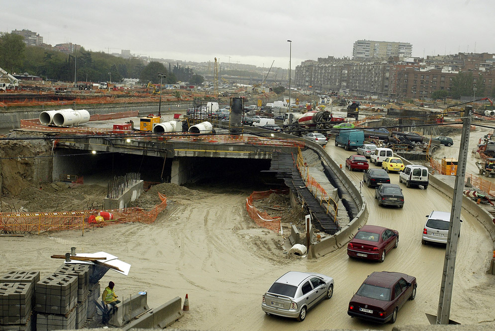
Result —
POLYGON ((347 314, 378 323, 395 323, 398 310, 407 300, 414 300, 416 287, 416 277, 375 271, 352 297, 347 314))

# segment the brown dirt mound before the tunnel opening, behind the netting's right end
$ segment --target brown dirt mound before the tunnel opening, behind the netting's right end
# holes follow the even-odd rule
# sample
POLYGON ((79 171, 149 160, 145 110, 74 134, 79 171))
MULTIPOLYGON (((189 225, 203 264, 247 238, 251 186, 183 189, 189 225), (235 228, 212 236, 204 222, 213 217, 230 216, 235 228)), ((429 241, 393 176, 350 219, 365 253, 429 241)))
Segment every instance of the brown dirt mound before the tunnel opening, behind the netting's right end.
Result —
POLYGON ((184 199, 192 199, 193 197, 199 197, 201 195, 201 192, 184 186, 173 183, 161 183, 153 185, 147 192, 143 192, 136 201, 130 203, 130 207, 155 207, 161 202, 160 197, 158 196, 158 192, 165 195, 166 197, 174 196, 184 199))

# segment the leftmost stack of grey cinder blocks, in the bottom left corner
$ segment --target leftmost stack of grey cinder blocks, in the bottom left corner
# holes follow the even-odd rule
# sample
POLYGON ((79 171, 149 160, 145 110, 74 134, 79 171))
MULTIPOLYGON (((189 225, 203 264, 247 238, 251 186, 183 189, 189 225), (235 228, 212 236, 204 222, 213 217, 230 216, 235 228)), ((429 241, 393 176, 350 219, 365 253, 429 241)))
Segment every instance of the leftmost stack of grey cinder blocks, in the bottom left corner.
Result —
POLYGON ((0 277, 0 331, 31 331, 39 271, 10 271, 0 277))

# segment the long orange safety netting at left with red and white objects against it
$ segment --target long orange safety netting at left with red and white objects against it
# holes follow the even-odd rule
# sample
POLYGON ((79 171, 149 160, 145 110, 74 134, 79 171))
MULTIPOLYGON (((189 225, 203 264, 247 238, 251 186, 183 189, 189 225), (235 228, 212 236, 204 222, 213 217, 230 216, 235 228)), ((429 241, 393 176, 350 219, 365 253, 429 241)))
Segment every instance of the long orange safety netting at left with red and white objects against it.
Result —
POLYGON ((0 233, 26 234, 45 231, 84 230, 117 223, 141 222, 151 224, 167 207, 167 197, 158 193, 160 204, 151 210, 123 208, 111 210, 85 210, 57 213, 0 213, 0 233), (97 216, 101 215, 103 221, 97 216), (111 216, 110 216, 111 215, 111 216))

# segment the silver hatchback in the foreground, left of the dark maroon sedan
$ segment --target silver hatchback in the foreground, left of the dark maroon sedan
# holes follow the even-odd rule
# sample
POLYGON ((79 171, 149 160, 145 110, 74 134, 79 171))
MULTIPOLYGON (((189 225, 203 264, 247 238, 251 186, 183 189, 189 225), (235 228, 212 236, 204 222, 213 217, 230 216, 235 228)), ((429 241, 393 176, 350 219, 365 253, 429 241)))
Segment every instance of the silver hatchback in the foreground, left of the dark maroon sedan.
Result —
POLYGON ((261 309, 267 314, 302 322, 306 312, 333 295, 333 278, 319 273, 289 271, 277 279, 263 296, 261 309))

